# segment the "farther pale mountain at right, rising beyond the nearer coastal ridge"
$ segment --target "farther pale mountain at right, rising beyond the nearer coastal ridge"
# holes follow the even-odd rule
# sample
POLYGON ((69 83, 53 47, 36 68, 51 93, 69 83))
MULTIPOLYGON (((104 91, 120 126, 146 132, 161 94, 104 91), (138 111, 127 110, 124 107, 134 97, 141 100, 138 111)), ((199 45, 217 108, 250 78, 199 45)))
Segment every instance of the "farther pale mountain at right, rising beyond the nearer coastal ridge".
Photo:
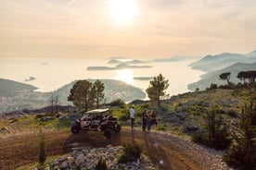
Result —
POLYGON ((254 63, 256 62, 256 52, 253 51, 247 55, 223 53, 220 55, 206 55, 200 60, 192 63, 189 67, 205 72, 223 69, 236 63, 254 63))

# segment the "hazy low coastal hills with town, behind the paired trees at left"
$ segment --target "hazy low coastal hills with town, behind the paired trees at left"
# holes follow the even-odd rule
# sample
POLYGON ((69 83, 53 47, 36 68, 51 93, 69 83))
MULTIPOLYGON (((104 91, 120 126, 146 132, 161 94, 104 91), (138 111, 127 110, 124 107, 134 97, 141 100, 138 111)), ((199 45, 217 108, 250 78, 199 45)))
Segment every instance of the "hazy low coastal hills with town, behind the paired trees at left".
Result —
MULTIPOLYGON (((96 79, 87 79, 91 82, 96 79)), ((134 86, 114 79, 100 79, 105 85, 105 102, 110 103, 116 99, 131 102, 146 98, 146 93, 134 86)), ((59 104, 69 105, 68 95, 76 81, 59 88, 56 92, 59 104)), ((37 88, 9 79, 0 79, 0 113, 12 112, 22 109, 37 109, 49 105, 51 92, 34 91, 37 88)))

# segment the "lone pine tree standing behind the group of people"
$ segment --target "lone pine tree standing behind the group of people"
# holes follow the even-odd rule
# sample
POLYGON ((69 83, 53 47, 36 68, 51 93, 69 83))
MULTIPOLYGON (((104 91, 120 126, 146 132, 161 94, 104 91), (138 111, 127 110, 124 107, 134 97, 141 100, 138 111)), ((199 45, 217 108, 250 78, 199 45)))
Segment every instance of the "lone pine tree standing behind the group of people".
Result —
POLYGON ((160 107, 160 97, 165 97, 167 88, 169 87, 169 80, 160 74, 158 77, 154 77, 153 80, 149 82, 149 87, 147 88, 147 96, 151 102, 157 102, 160 107))

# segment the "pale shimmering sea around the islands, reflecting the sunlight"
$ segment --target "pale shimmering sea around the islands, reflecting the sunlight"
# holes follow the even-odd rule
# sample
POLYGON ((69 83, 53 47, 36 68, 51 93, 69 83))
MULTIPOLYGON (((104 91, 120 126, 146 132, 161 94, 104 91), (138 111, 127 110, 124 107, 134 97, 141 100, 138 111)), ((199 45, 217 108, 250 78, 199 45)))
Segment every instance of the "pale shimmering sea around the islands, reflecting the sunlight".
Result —
MULTIPOLYGON (((195 58, 172 62, 153 60, 130 64, 129 67, 116 68, 110 59, 98 58, 2 58, 0 59, 0 78, 31 84, 36 91, 56 91, 58 88, 77 79, 118 79, 146 91, 150 78, 160 74, 169 80, 167 93, 177 95, 189 91, 187 85, 198 81, 204 72, 188 65, 195 58), (134 67, 135 66, 135 67, 134 67), (147 67, 145 67, 147 66, 147 67), (110 67, 93 69, 88 67, 110 67), (139 78, 139 79, 134 79, 139 78)), ((122 61, 129 61, 127 59, 122 61)))

